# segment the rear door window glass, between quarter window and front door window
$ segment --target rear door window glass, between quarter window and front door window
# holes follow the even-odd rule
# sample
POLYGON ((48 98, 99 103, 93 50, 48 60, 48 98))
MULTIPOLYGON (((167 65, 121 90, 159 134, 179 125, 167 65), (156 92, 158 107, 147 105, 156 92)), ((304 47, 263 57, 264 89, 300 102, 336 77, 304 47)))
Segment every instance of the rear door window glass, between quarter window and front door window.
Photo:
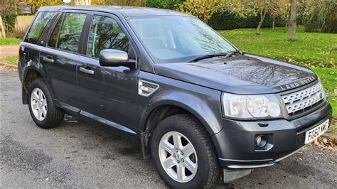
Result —
POLYGON ((65 13, 57 48, 77 52, 85 17, 84 13, 65 13))

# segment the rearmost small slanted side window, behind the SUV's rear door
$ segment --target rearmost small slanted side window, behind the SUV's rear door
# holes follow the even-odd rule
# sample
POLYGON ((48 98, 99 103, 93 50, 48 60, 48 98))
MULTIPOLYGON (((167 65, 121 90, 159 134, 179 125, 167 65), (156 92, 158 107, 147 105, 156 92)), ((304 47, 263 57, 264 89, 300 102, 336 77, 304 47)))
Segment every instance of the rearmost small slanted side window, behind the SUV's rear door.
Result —
POLYGON ((47 24, 55 16, 56 12, 40 12, 36 16, 31 28, 29 29, 25 41, 28 43, 36 44, 40 39, 43 29, 46 28, 47 24))

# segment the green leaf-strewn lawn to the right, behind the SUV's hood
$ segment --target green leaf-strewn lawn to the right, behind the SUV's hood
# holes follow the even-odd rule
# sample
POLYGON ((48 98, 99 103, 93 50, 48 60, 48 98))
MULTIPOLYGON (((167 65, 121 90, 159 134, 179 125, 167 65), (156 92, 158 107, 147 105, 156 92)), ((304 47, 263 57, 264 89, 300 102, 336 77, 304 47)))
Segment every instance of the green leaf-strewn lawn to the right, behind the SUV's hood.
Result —
MULTIPOLYGON (((296 31, 297 39, 287 41, 284 28, 274 31, 264 28, 260 36, 255 35, 254 30, 235 29, 219 33, 246 53, 309 66, 321 78, 333 107, 333 118, 337 120, 337 34, 305 33, 300 26, 296 31)), ((331 128, 337 129, 337 121, 331 128)))

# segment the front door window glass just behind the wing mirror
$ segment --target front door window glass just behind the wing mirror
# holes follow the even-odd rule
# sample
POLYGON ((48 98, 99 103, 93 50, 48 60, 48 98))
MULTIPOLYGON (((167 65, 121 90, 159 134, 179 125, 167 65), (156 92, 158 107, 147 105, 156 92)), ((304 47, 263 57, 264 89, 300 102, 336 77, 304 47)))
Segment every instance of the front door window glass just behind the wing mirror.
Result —
POLYGON ((98 58, 104 49, 129 51, 129 39, 118 23, 106 16, 94 16, 89 33, 87 55, 98 58))

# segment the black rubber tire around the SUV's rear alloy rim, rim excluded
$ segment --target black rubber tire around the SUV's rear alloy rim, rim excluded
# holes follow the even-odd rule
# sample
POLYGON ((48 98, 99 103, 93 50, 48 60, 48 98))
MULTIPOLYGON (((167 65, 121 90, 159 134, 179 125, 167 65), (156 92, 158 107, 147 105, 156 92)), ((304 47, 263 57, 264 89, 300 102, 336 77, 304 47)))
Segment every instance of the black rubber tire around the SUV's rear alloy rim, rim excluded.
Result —
POLYGON ((50 90, 46 85, 46 82, 44 82, 44 80, 41 78, 33 80, 33 82, 31 82, 31 84, 28 86, 28 108, 29 112, 31 112, 31 117, 33 118, 33 121, 42 129, 51 129, 59 126, 62 123, 63 117, 65 115, 62 109, 59 109, 55 106, 50 90), (36 88, 42 90, 47 102, 46 117, 42 121, 39 121, 35 117, 31 107, 31 93, 36 88))

